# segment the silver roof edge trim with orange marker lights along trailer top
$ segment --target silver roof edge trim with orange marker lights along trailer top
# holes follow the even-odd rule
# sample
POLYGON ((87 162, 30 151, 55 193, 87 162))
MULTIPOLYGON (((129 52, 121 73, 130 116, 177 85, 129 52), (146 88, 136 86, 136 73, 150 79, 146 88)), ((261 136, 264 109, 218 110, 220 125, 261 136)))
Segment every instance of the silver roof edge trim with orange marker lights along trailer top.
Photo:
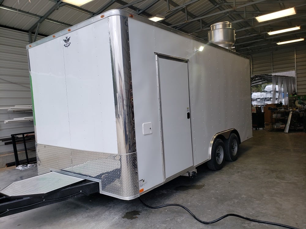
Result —
POLYGON ((81 27, 84 27, 84 26, 87 26, 89 24, 92 24, 92 23, 94 23, 94 22, 96 22, 98 20, 103 20, 103 19, 106 19, 107 17, 116 16, 116 15, 131 17, 131 18, 136 19, 138 21, 141 21, 141 22, 144 22, 146 24, 149 24, 149 25, 161 28, 161 29, 166 30, 166 31, 170 31, 170 32, 175 33, 177 35, 180 35, 180 36, 183 36, 183 37, 186 37, 186 38, 189 38, 189 39, 201 42, 201 43, 206 44, 206 45, 213 46, 213 47, 218 48, 218 49, 223 49, 223 50, 225 50, 225 51, 227 51, 229 53, 233 53, 233 54, 236 54, 238 56, 242 56, 244 58, 250 59, 248 56, 245 56, 245 55, 243 55, 241 53, 237 53, 237 52, 232 51, 230 49, 223 48, 223 47, 221 47, 219 45, 215 45, 214 43, 210 43, 210 42, 205 41, 203 39, 200 39, 200 38, 194 37, 192 35, 183 33, 181 31, 178 31, 178 30, 174 29, 174 28, 168 27, 168 26, 160 24, 158 22, 151 21, 151 20, 149 20, 147 18, 144 18, 142 16, 139 16, 139 15, 136 15, 136 14, 131 14, 130 12, 122 10, 122 9, 112 9, 112 10, 106 11, 105 13, 101 13, 101 14, 95 16, 95 17, 92 17, 92 18, 90 18, 88 20, 80 22, 79 24, 71 26, 71 27, 69 27, 69 28, 67 28, 65 30, 59 31, 59 32, 57 32, 57 33, 55 33, 53 35, 50 35, 50 36, 46 37, 46 38, 40 39, 39 41, 36 41, 36 42, 34 42, 32 44, 29 44, 29 45, 26 46, 26 49, 30 49, 30 48, 35 47, 37 45, 43 44, 43 43, 45 43, 47 41, 50 41, 52 39, 55 39, 55 38, 57 38, 59 36, 63 36, 63 35, 69 34, 72 31, 75 31, 75 30, 77 30, 77 29, 79 29, 81 27))

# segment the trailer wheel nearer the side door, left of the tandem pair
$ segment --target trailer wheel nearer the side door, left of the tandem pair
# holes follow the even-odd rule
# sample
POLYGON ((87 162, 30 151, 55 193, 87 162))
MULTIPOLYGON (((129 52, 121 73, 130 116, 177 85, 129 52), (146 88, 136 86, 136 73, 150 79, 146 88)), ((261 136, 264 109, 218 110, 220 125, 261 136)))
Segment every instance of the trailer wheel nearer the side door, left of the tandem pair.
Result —
POLYGON ((211 159, 207 162, 207 166, 211 170, 222 169, 224 165, 225 147, 221 139, 216 139, 211 149, 211 159))

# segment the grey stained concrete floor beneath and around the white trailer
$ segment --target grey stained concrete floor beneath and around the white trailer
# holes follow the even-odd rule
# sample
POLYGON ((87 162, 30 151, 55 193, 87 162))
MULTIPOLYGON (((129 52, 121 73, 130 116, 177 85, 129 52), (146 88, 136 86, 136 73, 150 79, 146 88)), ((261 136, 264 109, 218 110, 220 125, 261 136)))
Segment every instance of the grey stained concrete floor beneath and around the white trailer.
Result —
MULTIPOLYGON (((253 131, 240 157, 220 171, 198 167, 141 196, 149 205, 179 203, 202 220, 227 213, 306 228, 306 134, 253 131)), ((0 189, 36 175, 36 168, 0 169, 0 189)), ((0 228, 281 228, 228 217, 203 225, 179 207, 145 208, 138 199, 93 194, 0 218, 0 228)))

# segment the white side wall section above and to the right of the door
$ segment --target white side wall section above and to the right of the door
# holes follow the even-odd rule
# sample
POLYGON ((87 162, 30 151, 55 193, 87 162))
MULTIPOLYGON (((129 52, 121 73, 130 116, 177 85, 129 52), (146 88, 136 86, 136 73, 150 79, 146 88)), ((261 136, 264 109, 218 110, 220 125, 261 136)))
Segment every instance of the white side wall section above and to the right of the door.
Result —
POLYGON ((218 132, 235 128, 244 132, 241 141, 252 137, 249 60, 160 28, 155 38, 155 52, 189 60, 194 165, 210 159, 209 144, 218 132), (195 52, 200 46, 203 51, 195 52))

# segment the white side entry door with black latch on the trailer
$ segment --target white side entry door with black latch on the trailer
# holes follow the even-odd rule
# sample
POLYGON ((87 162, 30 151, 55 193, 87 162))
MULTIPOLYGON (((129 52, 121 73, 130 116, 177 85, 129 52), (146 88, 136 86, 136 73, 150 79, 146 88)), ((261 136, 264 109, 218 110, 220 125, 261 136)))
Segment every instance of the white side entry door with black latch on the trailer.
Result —
POLYGON ((188 60, 157 55, 165 179, 193 165, 188 60))

